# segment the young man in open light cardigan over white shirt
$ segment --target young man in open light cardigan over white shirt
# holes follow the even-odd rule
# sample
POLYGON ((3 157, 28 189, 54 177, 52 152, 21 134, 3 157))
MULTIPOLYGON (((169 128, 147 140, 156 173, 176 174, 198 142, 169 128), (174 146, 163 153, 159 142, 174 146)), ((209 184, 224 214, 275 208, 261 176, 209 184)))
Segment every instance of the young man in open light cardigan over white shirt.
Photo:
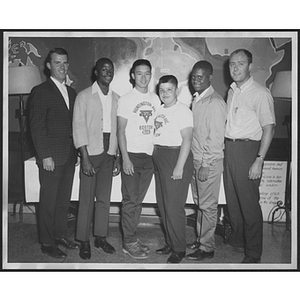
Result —
POLYGON ((120 172, 121 166, 117 142, 119 95, 110 89, 114 77, 112 61, 99 59, 94 75, 93 85, 76 98, 73 118, 74 144, 81 156, 76 239, 81 242, 79 255, 82 259, 91 258, 89 238, 94 210, 94 245, 106 253, 115 252, 106 237, 112 178, 120 172))

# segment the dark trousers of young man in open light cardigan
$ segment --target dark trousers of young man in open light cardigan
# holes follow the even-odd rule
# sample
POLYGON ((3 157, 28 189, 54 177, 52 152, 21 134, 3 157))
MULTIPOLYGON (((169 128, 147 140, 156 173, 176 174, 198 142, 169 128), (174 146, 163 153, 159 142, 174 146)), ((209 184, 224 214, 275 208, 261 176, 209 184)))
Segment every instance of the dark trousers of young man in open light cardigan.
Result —
POLYGON ((96 172, 94 176, 87 176, 82 168, 80 170, 76 239, 82 242, 89 240, 93 215, 94 236, 106 237, 108 234, 114 156, 107 154, 109 134, 104 135, 103 141, 104 152, 90 156, 96 172))

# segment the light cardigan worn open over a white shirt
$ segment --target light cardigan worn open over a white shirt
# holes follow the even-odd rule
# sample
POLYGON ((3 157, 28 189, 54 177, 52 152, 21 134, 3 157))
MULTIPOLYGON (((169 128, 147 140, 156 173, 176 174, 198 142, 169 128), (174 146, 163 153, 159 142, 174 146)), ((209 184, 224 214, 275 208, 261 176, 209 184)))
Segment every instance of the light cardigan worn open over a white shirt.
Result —
MULTIPOLYGON (((120 96, 112 91, 111 133, 108 154, 115 155, 117 140, 117 107, 120 96)), ((81 91, 75 100, 73 114, 73 139, 78 149, 87 146, 89 155, 98 155, 103 147, 103 108, 93 85, 81 91)))

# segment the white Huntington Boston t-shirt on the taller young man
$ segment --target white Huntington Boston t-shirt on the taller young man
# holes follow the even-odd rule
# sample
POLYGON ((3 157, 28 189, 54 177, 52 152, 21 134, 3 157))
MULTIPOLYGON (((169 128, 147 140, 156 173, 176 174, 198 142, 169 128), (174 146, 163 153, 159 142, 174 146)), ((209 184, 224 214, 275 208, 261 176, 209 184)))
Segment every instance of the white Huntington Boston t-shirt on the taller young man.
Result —
POLYGON ((160 104, 156 94, 143 94, 135 88, 119 99, 117 115, 127 119, 125 136, 128 152, 152 155, 154 118, 160 104))

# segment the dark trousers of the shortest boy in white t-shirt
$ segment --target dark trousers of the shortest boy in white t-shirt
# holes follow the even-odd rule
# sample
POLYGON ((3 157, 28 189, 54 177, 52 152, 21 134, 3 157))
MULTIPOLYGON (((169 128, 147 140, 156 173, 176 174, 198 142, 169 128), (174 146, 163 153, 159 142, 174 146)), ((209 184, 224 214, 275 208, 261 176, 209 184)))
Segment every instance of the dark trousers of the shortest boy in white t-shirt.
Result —
POLYGON ((155 148, 153 161, 155 167, 156 201, 165 230, 166 244, 173 251, 184 252, 186 248, 185 203, 193 174, 193 157, 186 160, 183 178, 171 178, 180 149, 155 148))

